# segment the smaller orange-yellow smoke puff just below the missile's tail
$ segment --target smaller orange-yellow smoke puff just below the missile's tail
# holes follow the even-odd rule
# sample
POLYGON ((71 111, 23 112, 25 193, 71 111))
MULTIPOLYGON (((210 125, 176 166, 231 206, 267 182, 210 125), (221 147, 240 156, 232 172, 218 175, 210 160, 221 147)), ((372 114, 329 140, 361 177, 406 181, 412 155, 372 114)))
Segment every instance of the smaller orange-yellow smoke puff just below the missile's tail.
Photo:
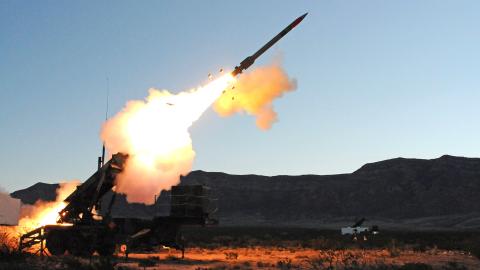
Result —
POLYGON ((225 117, 235 113, 253 115, 257 127, 267 130, 278 120, 272 102, 296 88, 295 79, 290 79, 280 64, 274 63, 241 75, 235 87, 215 102, 214 110, 225 117))

